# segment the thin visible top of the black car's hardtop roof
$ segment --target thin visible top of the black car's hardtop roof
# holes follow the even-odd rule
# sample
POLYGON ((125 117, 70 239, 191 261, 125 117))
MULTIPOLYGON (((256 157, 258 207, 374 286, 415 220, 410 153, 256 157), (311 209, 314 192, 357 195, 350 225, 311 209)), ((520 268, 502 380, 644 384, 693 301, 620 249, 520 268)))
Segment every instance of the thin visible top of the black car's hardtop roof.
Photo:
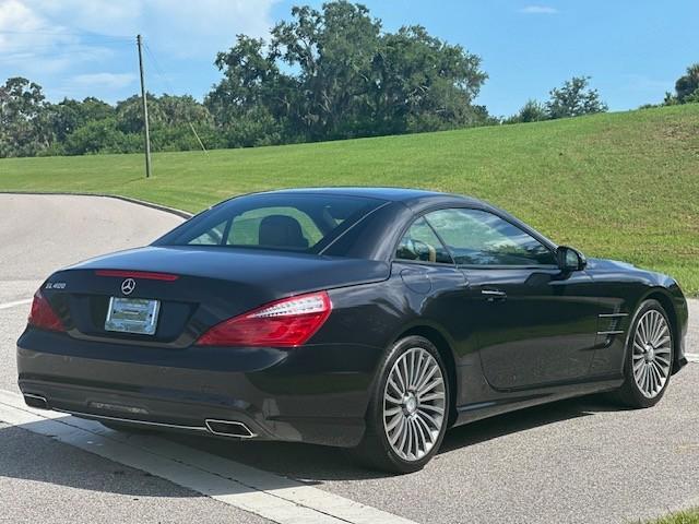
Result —
POLYGON ((462 196, 460 194, 441 193, 438 191, 428 191, 425 189, 410 189, 410 188, 375 188, 375 187, 325 187, 325 188, 295 188, 295 189, 280 189, 275 191, 264 191, 256 194, 336 194, 344 196, 363 196, 368 199, 380 199, 390 202, 403 202, 410 203, 449 203, 459 201, 466 204, 479 204, 485 203, 470 196, 462 196))

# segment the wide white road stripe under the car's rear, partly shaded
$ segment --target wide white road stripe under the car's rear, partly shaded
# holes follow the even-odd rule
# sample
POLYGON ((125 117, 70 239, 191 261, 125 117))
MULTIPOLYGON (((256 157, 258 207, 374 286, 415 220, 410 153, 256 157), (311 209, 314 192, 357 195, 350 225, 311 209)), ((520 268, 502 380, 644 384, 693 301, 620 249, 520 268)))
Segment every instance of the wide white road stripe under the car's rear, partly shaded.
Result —
POLYGON ((296 480, 215 456, 166 439, 128 436, 100 424, 33 409, 0 390, 0 420, 50 436, 280 524, 414 524, 296 480))

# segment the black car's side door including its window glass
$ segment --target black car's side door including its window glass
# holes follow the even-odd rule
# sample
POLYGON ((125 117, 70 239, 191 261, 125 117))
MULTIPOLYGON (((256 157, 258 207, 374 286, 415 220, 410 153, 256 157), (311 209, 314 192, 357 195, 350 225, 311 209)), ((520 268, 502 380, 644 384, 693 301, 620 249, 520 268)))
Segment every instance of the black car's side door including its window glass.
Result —
POLYGON ((425 216, 463 272, 483 371, 500 390, 589 373, 599 305, 584 271, 561 272, 553 246, 490 211, 425 216))

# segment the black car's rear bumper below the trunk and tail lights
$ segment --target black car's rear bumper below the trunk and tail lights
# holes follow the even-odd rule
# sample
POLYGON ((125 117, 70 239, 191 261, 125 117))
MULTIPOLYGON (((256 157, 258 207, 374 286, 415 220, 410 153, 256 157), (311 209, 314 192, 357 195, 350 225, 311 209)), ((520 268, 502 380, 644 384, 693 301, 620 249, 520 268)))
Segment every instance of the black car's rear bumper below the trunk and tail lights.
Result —
POLYGON ((364 434, 379 348, 323 344, 163 349, 27 330, 19 384, 48 407, 106 421, 206 432, 242 422, 259 440, 356 445, 364 434))

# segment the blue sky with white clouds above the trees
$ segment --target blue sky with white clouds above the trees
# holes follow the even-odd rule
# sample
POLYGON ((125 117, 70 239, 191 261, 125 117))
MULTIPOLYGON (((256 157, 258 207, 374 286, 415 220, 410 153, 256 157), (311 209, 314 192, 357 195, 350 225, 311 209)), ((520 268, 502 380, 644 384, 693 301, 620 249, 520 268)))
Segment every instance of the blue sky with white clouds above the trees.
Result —
MULTIPOLYGON (((149 45, 147 86, 201 99, 216 51, 264 36, 288 0, 0 0, 0 81, 23 75, 49 99, 138 92, 134 35, 149 45)), ((699 61, 696 0, 367 0, 388 31, 420 24, 479 55, 479 104, 510 115, 572 75, 590 75, 612 110, 662 100, 699 61)))

